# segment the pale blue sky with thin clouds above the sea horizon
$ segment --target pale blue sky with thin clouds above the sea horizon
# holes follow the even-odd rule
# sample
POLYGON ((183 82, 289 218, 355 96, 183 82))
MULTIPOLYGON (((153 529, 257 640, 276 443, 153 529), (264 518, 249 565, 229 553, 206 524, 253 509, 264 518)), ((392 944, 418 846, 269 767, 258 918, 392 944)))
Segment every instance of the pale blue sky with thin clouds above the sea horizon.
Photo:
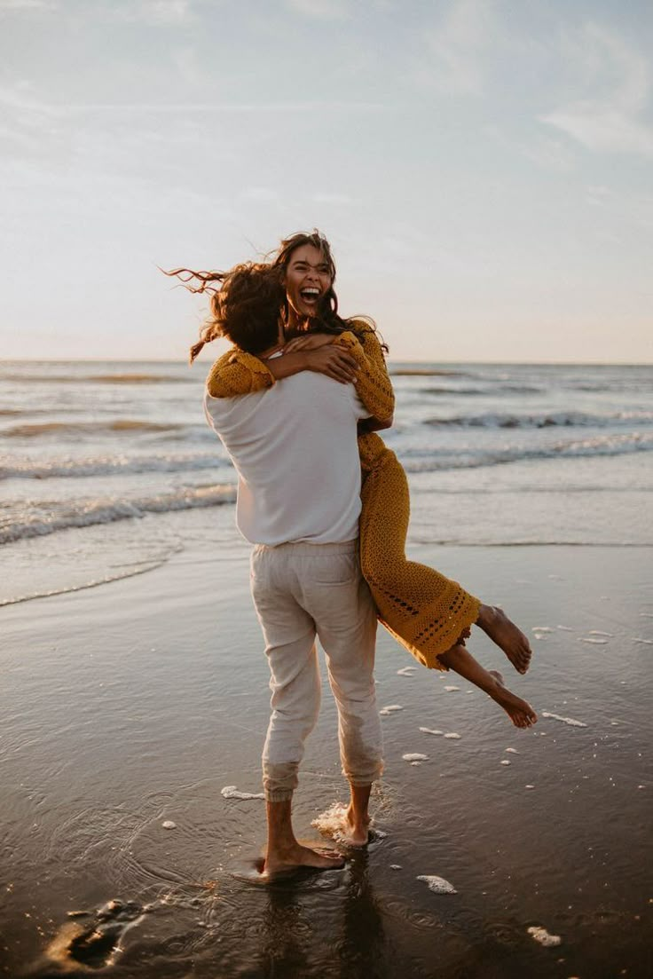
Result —
POLYGON ((183 359, 158 266, 318 227, 394 360, 653 362, 651 52, 650 0, 0 0, 0 359, 183 359))

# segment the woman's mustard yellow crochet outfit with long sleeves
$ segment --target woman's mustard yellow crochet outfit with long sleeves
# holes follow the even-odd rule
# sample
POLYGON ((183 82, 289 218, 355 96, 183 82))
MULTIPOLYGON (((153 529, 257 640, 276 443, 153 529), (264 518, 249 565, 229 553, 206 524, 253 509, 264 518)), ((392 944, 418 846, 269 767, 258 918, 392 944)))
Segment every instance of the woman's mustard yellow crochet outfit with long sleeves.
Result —
MULTIPOLYGON (((375 418, 392 416, 395 395, 374 331, 353 321, 334 343, 359 364, 356 392, 375 418)), ((227 350, 213 364, 207 387, 213 397, 246 395, 269 388, 275 379, 265 363, 243 350, 227 350)), ((410 498, 403 467, 378 435, 358 437, 362 469, 360 564, 376 602, 379 622, 431 669, 444 670, 439 656, 476 622, 480 601, 457 582, 415 561, 407 561, 410 498)))

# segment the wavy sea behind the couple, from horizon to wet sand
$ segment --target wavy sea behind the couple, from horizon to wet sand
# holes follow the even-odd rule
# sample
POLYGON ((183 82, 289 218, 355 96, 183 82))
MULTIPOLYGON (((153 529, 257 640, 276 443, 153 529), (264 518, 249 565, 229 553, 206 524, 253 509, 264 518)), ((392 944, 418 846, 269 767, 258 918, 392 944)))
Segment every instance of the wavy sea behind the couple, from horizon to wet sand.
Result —
MULTIPOLYGON (((653 366, 391 369, 412 542, 653 543, 653 366)), ((0 361, 0 604, 154 569, 230 507, 206 371, 0 361)))

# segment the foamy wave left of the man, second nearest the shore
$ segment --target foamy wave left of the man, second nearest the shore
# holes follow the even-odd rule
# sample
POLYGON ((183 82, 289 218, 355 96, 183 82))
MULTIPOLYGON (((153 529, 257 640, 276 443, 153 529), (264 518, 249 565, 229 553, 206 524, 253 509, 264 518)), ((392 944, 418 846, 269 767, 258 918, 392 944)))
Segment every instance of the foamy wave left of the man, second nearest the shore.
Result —
POLYGON ((127 473, 180 473, 189 470, 231 468, 217 452, 171 455, 97 455, 86 458, 59 458, 45 462, 0 456, 2 479, 82 479, 87 476, 116 476, 127 473))

